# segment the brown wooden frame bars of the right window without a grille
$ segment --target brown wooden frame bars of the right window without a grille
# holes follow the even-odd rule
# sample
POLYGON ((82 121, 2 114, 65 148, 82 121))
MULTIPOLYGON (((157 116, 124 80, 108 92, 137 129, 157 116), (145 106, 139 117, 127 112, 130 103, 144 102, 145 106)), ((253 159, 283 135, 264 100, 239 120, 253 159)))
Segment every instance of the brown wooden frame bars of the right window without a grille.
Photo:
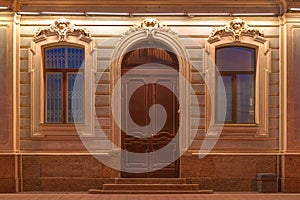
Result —
MULTIPOLYGON (((255 99, 256 99, 256 90, 257 90, 257 88, 256 88, 256 83, 254 83, 254 88, 253 88, 253 90, 254 90, 254 99, 253 99, 253 101, 254 101, 254 122, 253 123, 238 123, 237 122, 237 109, 236 109, 236 106, 237 106, 237 103, 236 103, 236 97, 237 97, 237 83, 236 83, 236 78, 237 78, 237 75, 238 74, 253 74, 254 75, 254 80, 256 80, 256 76, 257 76, 257 74, 256 74, 256 71, 257 71, 257 48, 256 47, 249 47, 249 46, 243 46, 243 45, 221 45, 221 46, 218 46, 218 47, 216 47, 216 49, 215 49, 215 61, 217 61, 217 52, 218 52, 218 49, 225 49, 225 48, 231 48, 231 47, 240 47, 240 48, 245 48, 245 49, 249 49, 249 50, 253 50, 254 51, 254 71, 239 71, 239 70, 237 70, 237 71, 220 71, 220 70, 218 70, 219 71, 219 74, 220 74, 220 76, 222 77, 223 75, 230 75, 230 76, 232 76, 233 77, 233 80, 232 80, 232 83, 233 83, 233 88, 232 88, 232 110, 231 110, 231 112, 232 112, 232 115, 231 115, 231 117, 232 117, 232 120, 231 121, 224 121, 224 123, 225 123, 225 125, 227 125, 227 124, 232 124, 232 125, 235 125, 235 124, 239 124, 239 125, 255 125, 256 124, 256 120, 255 120, 255 107, 256 107, 256 102, 255 102, 255 99)), ((217 64, 216 64, 217 65, 217 64)), ((218 67, 216 66, 216 69, 218 69, 218 67)), ((216 76, 216 101, 215 101, 215 104, 217 104, 217 102, 218 102, 218 95, 217 95, 217 91, 218 91, 218 88, 217 88, 217 79, 218 79, 218 77, 216 76)), ((254 81, 254 82, 256 82, 256 81, 254 81)), ((216 106, 217 107, 217 106, 216 106)), ((216 124, 218 124, 218 123, 220 123, 220 121, 218 121, 218 117, 217 117, 217 109, 215 109, 215 116, 216 116, 216 124)), ((222 123, 222 122, 221 122, 222 123)))

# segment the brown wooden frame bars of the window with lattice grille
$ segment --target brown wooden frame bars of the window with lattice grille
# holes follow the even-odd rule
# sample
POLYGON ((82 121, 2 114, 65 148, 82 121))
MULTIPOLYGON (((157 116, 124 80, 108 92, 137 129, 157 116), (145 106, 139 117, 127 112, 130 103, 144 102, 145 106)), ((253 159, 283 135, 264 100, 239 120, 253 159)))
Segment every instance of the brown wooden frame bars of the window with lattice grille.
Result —
MULTIPOLYGON (((49 45, 49 46, 45 46, 42 48, 42 52, 43 52, 43 67, 44 67, 44 102, 45 102, 45 111, 44 111, 44 119, 45 119, 45 124, 74 124, 74 122, 68 122, 68 95, 67 95, 67 92, 68 92, 68 73, 76 73, 76 72, 82 72, 83 73, 83 79, 84 79, 84 68, 78 68, 78 69, 72 69, 72 68, 55 68, 55 69, 47 69, 46 68, 46 58, 45 58, 45 51, 47 49, 55 49, 55 48, 78 48, 78 49, 81 49, 83 50, 83 52, 85 51, 84 50, 84 47, 81 46, 81 45, 67 45, 67 44, 64 44, 64 45, 49 45), (62 122, 48 122, 47 121, 47 73, 62 73, 62 122)), ((83 56, 83 61, 84 61, 85 57, 83 56)), ((66 61, 65 61, 66 62, 66 61)), ((84 81, 84 80, 83 80, 84 81)), ((84 87, 82 88, 82 93, 84 94, 85 91, 84 91, 84 87)), ((83 121, 82 123, 84 122, 84 110, 85 110, 85 107, 84 107, 84 98, 82 99, 82 110, 83 110, 83 121)), ((78 123, 78 122, 77 122, 78 123)))

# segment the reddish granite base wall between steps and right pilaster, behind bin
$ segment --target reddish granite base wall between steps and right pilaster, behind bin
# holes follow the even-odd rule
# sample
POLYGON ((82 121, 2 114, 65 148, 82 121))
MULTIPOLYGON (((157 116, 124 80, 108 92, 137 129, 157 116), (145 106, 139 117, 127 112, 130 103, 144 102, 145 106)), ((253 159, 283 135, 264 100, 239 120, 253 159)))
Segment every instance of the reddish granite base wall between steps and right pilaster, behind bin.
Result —
POLYGON ((181 177, 201 189, 256 192, 258 173, 277 173, 276 156, 209 155, 181 158, 181 177))

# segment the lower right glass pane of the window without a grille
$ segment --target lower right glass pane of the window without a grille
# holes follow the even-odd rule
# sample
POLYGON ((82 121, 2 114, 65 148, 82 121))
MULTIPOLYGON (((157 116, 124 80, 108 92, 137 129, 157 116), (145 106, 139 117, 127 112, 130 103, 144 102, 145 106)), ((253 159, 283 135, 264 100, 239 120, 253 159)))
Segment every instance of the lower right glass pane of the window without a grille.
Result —
POLYGON ((254 75, 236 76, 236 116, 237 123, 254 123, 254 75))

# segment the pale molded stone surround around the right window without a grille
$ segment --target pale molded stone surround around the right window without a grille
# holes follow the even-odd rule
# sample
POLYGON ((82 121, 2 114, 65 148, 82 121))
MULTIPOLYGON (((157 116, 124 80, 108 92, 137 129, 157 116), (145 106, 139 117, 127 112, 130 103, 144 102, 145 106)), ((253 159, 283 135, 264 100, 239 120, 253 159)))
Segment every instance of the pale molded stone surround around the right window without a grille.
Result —
POLYGON ((251 34, 243 35, 238 41, 235 41, 231 35, 223 35, 214 40, 207 40, 205 49, 207 54, 204 56, 205 82, 209 85, 206 87, 206 123, 205 129, 208 130, 213 126, 223 126, 222 136, 269 136, 269 73, 271 64, 271 55, 269 51, 269 42, 265 38, 251 34), (255 77, 255 123, 253 124, 218 124, 215 116, 215 69, 216 49, 228 46, 242 46, 256 49, 256 77, 255 77), (210 127, 210 128, 209 128, 210 127))

